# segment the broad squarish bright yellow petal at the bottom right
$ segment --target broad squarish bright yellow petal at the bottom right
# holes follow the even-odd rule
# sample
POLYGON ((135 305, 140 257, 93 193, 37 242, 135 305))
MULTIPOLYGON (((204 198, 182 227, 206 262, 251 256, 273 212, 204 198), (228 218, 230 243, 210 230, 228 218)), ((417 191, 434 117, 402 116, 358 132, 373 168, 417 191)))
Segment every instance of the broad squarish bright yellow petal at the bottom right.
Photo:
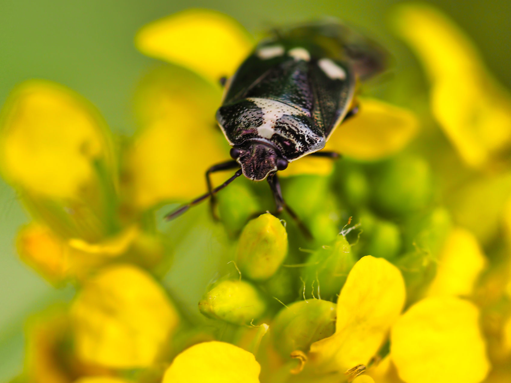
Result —
POLYGON ((479 310, 454 297, 410 307, 392 327, 390 354, 406 383, 478 383, 490 369, 479 310))

